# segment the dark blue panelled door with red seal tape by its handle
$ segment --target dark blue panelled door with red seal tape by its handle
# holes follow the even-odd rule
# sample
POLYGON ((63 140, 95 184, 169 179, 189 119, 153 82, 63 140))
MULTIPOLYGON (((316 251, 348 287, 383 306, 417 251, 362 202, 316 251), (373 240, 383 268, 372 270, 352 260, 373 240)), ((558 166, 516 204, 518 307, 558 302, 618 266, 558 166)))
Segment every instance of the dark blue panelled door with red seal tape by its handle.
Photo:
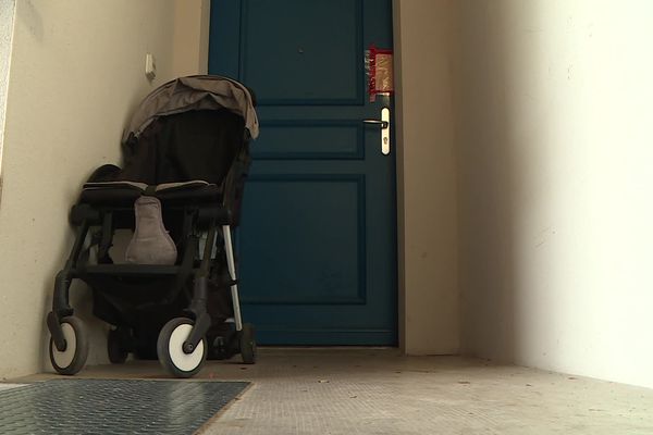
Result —
POLYGON ((392 48, 391 0, 212 2, 209 72, 258 100, 237 251, 260 344, 397 343, 395 150, 362 122, 394 111, 370 102, 372 46, 392 48))

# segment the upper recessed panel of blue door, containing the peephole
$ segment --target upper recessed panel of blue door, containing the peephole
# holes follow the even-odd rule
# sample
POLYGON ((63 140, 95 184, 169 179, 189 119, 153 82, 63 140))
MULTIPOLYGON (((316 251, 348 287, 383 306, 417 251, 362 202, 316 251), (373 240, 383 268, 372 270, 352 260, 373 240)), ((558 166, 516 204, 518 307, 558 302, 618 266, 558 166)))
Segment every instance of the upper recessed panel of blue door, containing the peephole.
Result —
POLYGON ((241 77, 259 104, 360 104, 361 1, 246 0, 241 20, 241 77))

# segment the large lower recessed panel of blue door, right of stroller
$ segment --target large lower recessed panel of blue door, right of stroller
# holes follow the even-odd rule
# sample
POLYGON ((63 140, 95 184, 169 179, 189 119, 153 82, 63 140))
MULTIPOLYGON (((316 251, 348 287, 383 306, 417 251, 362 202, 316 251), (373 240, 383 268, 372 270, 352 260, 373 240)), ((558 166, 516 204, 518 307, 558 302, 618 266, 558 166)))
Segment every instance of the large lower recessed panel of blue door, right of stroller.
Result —
POLYGON ((247 189, 258 199, 248 206, 250 215, 274 210, 276 216, 241 235, 241 247, 249 252, 241 269, 248 277, 245 303, 365 303, 362 176, 255 175, 247 189))

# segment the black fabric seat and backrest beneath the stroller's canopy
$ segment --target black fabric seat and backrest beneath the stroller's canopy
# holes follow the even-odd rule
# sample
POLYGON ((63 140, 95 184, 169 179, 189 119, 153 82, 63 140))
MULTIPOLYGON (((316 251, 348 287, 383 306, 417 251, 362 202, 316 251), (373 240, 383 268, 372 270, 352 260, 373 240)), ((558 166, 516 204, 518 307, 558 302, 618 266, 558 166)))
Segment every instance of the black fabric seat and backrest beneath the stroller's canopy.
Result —
MULTIPOLYGON (((227 110, 199 110, 161 116, 136 138, 123 144, 124 167, 99 167, 89 182, 132 182, 148 186, 201 181, 208 185, 169 188, 156 196, 172 202, 223 201, 239 222, 244 178, 250 164, 244 120, 227 110)), ((81 201, 96 204, 132 204, 141 191, 134 187, 93 188, 81 201)))

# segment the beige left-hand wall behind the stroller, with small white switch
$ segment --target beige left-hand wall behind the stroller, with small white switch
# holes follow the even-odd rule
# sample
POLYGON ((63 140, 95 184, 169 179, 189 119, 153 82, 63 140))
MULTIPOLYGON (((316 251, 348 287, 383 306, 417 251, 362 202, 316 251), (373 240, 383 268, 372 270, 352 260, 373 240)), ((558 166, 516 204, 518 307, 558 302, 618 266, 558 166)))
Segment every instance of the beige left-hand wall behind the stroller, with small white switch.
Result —
MULTIPOLYGON (((173 0, 16 3, 0 207, 0 378, 49 369, 45 314, 72 246, 67 212, 90 171, 119 161, 135 104, 173 77, 173 0), (157 59, 149 83, 145 54, 157 59)), ((177 57, 177 59, 180 59, 177 57)), ((187 58, 186 58, 187 60, 187 58)), ((190 62, 190 61, 188 61, 190 62)), ((88 293, 73 287, 88 318, 88 293)), ((106 360, 91 323, 89 362, 106 360)))

